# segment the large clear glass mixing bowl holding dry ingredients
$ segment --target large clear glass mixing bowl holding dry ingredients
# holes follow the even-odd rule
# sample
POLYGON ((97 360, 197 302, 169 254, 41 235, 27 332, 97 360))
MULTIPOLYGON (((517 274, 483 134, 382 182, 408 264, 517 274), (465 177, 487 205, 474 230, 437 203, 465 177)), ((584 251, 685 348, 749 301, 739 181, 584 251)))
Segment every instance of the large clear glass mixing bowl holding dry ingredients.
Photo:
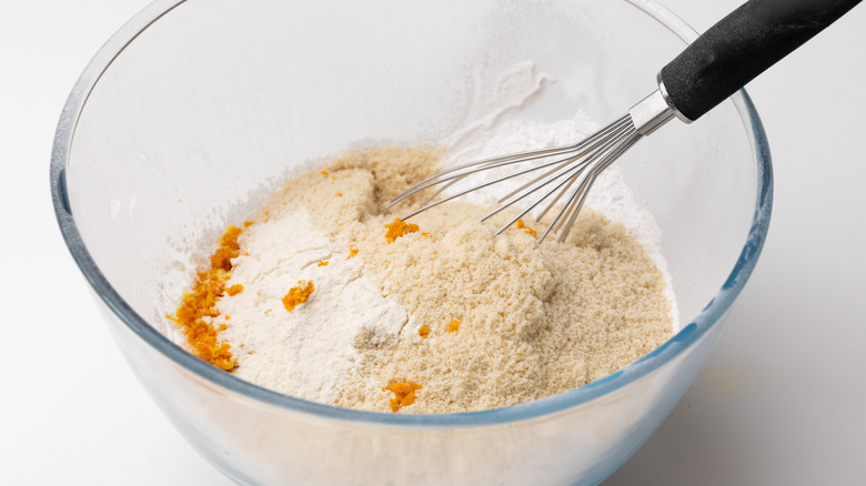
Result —
POLYGON ((240 483, 594 484, 679 399, 761 252, 771 160, 745 92, 617 162, 664 233, 684 325, 581 388, 463 414, 334 408, 200 362, 172 344, 164 314, 190 283, 190 255, 288 172, 365 140, 435 141, 526 60, 555 82, 506 118, 611 120, 694 37, 647 0, 155 1, 69 98, 51 162, 57 217, 138 377, 240 483))

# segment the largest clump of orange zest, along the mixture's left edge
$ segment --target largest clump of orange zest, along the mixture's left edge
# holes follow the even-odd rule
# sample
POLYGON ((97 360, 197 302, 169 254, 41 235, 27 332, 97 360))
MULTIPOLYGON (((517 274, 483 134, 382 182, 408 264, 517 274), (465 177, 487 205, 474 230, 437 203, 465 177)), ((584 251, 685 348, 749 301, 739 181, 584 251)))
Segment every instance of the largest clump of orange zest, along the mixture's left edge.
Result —
POLYGON ((223 293, 231 292, 231 288, 243 288, 241 285, 225 288, 225 281, 231 277, 231 261, 240 253, 240 234, 241 230, 235 226, 225 230, 220 237, 220 246, 211 255, 211 267, 195 275, 191 292, 183 294, 174 317, 165 315, 181 328, 193 355, 226 372, 236 366, 231 345, 216 340, 216 334, 226 327, 225 324, 216 327, 212 323, 220 315, 215 306, 223 293))

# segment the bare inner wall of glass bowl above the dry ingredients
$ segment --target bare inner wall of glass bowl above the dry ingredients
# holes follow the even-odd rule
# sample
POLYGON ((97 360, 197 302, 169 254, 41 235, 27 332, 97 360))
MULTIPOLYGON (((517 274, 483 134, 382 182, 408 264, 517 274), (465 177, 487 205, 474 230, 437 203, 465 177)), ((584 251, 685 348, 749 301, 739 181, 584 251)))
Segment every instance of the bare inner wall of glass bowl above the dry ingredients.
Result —
MULTIPOLYGON (((652 92, 683 47, 628 2, 189 0, 88 92, 69 148, 69 206, 111 287, 168 335, 194 255, 286 174, 351 146, 437 143, 524 61, 555 81, 503 120, 583 109, 605 122, 652 92)), ((752 226, 751 132, 726 102, 692 125, 669 123, 617 164, 664 233, 685 325, 752 226)))

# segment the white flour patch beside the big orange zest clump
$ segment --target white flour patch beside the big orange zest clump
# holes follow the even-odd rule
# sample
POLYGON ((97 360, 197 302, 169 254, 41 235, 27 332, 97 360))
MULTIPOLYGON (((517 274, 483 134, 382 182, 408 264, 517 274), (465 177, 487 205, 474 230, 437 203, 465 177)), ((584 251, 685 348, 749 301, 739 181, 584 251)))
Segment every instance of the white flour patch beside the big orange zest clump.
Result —
POLYGON ((382 297, 361 275, 360 261, 346 260, 348 249, 335 249, 302 207, 252 225, 243 241, 232 282, 243 282, 244 290, 221 300, 218 318, 226 324, 220 337, 233 344, 240 363, 234 374, 286 395, 332 403, 360 350, 393 340, 406 322, 405 311, 382 297), (315 282, 315 291, 286 312, 281 298, 298 280, 315 282))

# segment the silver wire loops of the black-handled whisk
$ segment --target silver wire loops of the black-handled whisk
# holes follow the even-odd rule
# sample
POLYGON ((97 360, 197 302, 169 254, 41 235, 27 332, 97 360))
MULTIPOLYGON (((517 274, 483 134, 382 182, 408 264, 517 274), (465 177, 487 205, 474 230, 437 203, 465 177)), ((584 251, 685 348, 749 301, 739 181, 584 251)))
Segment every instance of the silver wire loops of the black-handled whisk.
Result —
POLYGON ((540 212, 532 214, 536 221, 541 221, 545 214, 556 207, 560 201, 563 201, 556 215, 553 216, 538 239, 541 243, 548 235, 554 234, 557 241, 562 242, 568 235, 595 180, 641 136, 642 133, 635 129, 632 117, 625 114, 571 145, 512 153, 446 169, 409 188, 382 211, 387 211, 393 205, 421 191, 434 188, 435 192, 421 204, 421 207, 402 217, 402 220, 407 220, 422 211, 471 192, 515 180, 521 185, 501 198, 496 209, 485 214, 481 221, 521 203, 520 213, 496 231, 496 234, 500 234, 515 224, 517 220, 525 217, 526 214, 544 204, 540 212), (485 172, 505 166, 513 169, 513 171, 492 180, 485 180, 485 172), (454 192, 443 195, 443 192, 451 188, 454 192), (440 198, 441 195, 442 198, 440 198))

